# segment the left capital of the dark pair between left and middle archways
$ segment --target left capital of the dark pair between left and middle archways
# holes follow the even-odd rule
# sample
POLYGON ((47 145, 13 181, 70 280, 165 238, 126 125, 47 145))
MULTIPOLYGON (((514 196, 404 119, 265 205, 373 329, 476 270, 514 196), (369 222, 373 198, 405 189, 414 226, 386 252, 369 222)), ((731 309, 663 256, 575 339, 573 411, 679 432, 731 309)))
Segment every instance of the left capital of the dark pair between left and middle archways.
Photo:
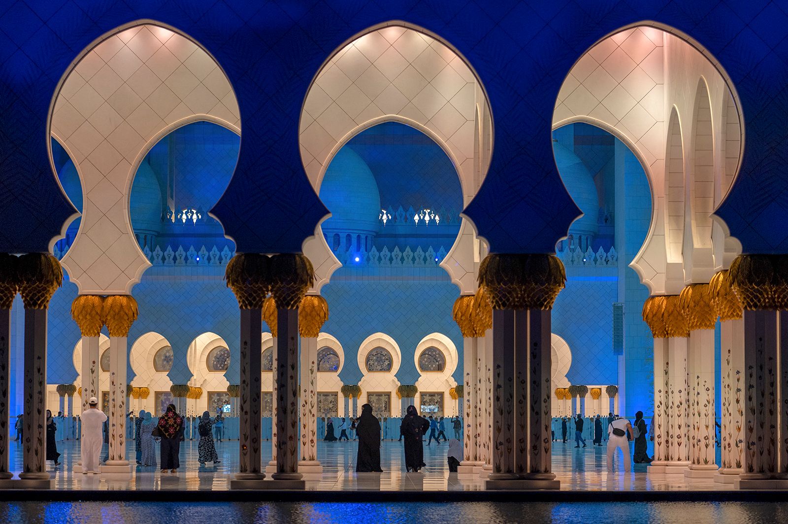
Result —
POLYGON ((260 309, 271 290, 271 259, 260 253, 236 253, 225 268, 227 287, 241 309, 260 309))

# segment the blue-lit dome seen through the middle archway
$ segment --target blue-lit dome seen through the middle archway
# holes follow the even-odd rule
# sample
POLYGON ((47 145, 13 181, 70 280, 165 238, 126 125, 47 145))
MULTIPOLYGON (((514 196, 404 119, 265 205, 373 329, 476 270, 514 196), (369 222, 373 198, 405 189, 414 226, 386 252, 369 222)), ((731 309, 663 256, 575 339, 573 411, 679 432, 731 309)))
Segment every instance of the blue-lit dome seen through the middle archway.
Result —
POLYGON ((323 231, 377 233, 381 213, 381 195, 375 176, 355 151, 343 147, 325 171, 320 199, 331 218, 323 231))

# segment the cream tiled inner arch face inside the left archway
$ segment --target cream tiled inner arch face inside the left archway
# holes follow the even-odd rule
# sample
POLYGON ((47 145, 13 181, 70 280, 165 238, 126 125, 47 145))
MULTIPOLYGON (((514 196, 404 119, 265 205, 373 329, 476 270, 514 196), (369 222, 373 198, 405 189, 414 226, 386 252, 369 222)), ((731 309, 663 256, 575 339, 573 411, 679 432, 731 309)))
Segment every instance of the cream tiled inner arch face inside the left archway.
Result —
POLYGON ((128 208, 139 162, 158 138, 191 121, 240 134, 235 93, 193 39, 137 20, 102 35, 72 61, 52 108, 50 135, 74 161, 83 190, 80 230, 61 263, 82 294, 130 293, 150 267, 128 208))

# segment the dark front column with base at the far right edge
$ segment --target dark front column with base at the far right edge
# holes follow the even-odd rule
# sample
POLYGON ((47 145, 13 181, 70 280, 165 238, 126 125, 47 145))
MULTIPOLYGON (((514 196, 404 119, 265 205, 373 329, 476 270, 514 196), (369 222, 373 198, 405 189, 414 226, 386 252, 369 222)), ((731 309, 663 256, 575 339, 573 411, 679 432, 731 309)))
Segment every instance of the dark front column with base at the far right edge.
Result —
MULTIPOLYGON (((744 312, 744 471, 734 481, 741 489, 785 489, 779 478, 778 313, 744 312)), ((782 330, 781 330, 782 331, 782 330)))

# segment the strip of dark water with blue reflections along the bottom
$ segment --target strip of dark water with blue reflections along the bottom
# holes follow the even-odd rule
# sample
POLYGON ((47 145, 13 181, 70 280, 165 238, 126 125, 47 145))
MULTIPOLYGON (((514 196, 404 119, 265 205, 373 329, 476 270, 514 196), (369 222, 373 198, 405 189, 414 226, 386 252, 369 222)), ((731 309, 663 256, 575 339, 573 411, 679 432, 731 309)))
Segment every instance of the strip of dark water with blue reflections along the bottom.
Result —
MULTIPOLYGON (((206 493, 221 500, 220 493, 206 493)), ((403 493, 403 497, 407 494, 403 493)), ((119 522, 561 522, 566 524, 766 524, 788 522, 788 504, 778 503, 13 503, 0 505, 0 522, 115 524, 119 522)))

